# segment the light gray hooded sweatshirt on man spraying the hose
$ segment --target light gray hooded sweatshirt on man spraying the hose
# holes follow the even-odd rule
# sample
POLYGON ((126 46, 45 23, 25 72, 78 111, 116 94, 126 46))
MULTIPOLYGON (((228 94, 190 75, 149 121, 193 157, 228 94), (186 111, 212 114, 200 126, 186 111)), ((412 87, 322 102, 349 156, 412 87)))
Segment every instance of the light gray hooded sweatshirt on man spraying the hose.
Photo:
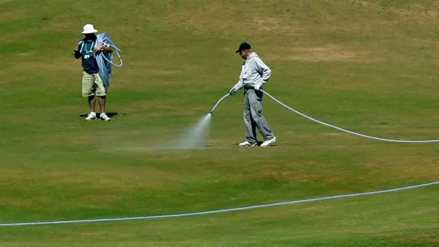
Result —
POLYGON ((256 52, 252 52, 250 56, 242 64, 241 75, 239 75, 239 81, 235 86, 241 88, 252 87, 256 84, 261 86, 270 80, 272 71, 270 68, 259 58, 256 52))

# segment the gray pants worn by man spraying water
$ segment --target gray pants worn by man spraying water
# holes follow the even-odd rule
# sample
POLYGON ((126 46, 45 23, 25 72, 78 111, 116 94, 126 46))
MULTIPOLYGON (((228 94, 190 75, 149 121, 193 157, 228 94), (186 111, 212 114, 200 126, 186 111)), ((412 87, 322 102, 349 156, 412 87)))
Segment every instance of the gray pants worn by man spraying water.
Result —
POLYGON ((274 137, 262 115, 262 95, 261 91, 254 91, 254 89, 244 90, 244 122, 246 123, 246 138, 249 143, 257 141, 256 128, 261 132, 265 141, 274 137))

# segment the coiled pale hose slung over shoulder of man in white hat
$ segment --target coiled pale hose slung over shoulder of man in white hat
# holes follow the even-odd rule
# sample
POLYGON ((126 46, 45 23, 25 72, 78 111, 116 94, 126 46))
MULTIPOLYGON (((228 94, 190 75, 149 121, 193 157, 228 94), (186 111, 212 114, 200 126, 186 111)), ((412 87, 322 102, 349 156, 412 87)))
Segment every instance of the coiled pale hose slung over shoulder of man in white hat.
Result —
POLYGON ((115 67, 122 67, 123 62, 121 55, 119 54, 121 50, 112 43, 111 38, 108 37, 106 33, 97 34, 96 46, 99 45, 108 45, 109 47, 112 47, 120 61, 120 64, 115 64, 112 62, 112 52, 95 53, 97 67, 99 68, 99 75, 102 79, 102 82, 104 82, 104 86, 108 88, 110 86, 111 66, 114 65, 115 67))

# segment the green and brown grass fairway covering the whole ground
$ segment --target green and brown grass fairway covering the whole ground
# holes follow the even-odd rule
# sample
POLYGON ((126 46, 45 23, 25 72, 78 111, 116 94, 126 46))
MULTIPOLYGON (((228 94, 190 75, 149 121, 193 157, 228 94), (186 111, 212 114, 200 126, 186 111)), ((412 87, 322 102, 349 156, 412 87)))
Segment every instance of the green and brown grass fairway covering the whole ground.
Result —
MULTIPOLYGON (((335 126, 439 139, 433 0, 0 0, 0 223, 209 211, 439 180, 439 145, 320 126, 268 97, 278 145, 244 141, 242 91, 209 148, 176 141, 235 84, 251 43, 265 90, 335 126), (123 51, 107 112, 86 122, 72 50, 94 23, 123 51)), ((438 246, 439 186, 235 213, 0 228, 0 246, 438 246)))

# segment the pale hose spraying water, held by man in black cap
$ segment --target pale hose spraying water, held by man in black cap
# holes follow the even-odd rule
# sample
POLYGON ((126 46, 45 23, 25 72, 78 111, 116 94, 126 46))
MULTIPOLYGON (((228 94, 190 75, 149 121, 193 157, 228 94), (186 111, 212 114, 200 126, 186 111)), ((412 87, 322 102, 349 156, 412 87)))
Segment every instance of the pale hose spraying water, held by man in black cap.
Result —
MULTIPOLYGON (((327 124, 327 123, 325 123, 323 121, 319 121, 317 119, 313 119, 312 117, 309 117, 309 116, 307 116, 307 115, 305 115, 303 113, 300 113, 298 110, 294 110, 293 108, 287 106, 286 104, 283 104, 281 101, 279 101, 278 99, 276 99, 275 97, 273 97, 269 93, 263 91, 262 89, 261 89, 261 92, 264 93, 265 95, 267 95, 268 97, 270 97, 271 99, 273 99, 275 102, 277 102, 281 106, 287 108, 288 110, 291 110, 293 113, 296 113, 296 114, 298 114, 298 115, 300 115, 302 117, 305 117, 305 118, 307 118, 307 119, 309 119, 311 121, 315 121, 318 124, 322 124, 324 126, 329 126, 331 128, 335 128, 336 130, 340 130, 340 131, 346 132, 348 134, 354 134, 354 135, 359 136, 359 137, 365 137, 365 138, 368 138, 368 139, 374 139, 374 140, 378 140, 378 141, 388 141, 388 142, 394 142, 394 143, 437 143, 437 142, 439 142, 439 140, 396 140, 396 139, 385 139, 385 138, 379 138, 379 137, 372 137, 372 136, 369 136, 369 135, 366 135, 366 134, 360 134, 360 133, 357 133, 357 132, 353 132, 351 130, 345 130, 345 129, 337 127, 337 126, 333 126, 331 124, 327 124)), ((215 106, 213 106, 212 110, 210 111, 211 114, 213 113, 213 110, 215 110, 215 108, 217 108, 219 102, 222 102, 223 99, 228 97, 228 95, 230 95, 230 93, 224 95, 221 99, 218 100, 217 104, 215 104, 215 106)))

